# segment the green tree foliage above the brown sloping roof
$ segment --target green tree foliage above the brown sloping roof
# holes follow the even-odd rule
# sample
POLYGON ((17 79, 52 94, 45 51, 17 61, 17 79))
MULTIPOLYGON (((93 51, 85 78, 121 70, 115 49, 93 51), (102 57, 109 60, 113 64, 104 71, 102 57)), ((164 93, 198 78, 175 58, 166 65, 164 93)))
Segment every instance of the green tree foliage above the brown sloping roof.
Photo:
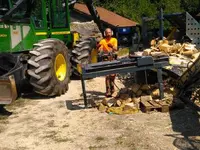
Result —
POLYGON ((99 0, 97 5, 141 23, 142 16, 155 17, 158 9, 164 13, 188 11, 197 14, 200 0, 99 0))

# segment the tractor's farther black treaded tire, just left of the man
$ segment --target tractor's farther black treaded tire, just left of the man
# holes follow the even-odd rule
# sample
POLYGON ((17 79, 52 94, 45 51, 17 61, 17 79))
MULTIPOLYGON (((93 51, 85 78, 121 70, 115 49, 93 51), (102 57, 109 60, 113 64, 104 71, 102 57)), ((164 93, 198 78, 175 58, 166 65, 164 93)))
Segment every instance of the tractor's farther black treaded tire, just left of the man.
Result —
POLYGON ((74 61, 76 64, 91 63, 91 53, 93 49, 96 49, 95 38, 91 37, 78 41, 74 50, 72 51, 72 61, 74 61))

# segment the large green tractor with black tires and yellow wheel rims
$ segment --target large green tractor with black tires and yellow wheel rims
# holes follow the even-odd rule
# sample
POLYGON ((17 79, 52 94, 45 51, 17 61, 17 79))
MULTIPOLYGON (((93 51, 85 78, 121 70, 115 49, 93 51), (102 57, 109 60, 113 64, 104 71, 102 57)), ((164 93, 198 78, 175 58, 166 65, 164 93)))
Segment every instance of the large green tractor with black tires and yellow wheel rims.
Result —
POLYGON ((69 11, 68 0, 0 0, 0 104, 27 89, 62 95, 80 64, 97 60, 95 38, 70 31, 69 11))

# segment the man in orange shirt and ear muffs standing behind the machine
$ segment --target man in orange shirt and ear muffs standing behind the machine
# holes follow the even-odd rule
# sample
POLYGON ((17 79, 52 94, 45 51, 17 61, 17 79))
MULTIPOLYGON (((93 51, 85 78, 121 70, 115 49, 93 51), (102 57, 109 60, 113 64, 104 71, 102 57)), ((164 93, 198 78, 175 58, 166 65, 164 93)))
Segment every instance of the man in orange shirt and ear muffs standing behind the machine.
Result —
MULTIPOLYGON (((117 39, 112 37, 113 31, 110 28, 105 30, 104 36, 105 38, 97 46, 98 52, 102 55, 103 61, 112 61, 116 59, 113 54, 118 50, 117 39)), ((114 93, 115 76, 115 74, 106 76, 106 97, 111 97, 114 93)))

